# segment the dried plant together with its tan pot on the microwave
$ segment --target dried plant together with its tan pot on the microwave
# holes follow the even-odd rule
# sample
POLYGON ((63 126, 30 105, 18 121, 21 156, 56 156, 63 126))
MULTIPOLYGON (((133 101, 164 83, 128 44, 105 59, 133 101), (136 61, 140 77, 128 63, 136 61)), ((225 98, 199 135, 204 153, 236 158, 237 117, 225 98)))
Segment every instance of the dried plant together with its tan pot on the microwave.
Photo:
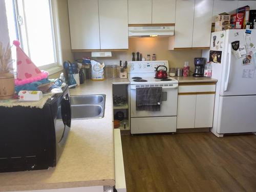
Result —
POLYGON ((12 71, 11 47, 3 47, 0 42, 0 100, 11 99, 14 94, 14 75, 12 71))

